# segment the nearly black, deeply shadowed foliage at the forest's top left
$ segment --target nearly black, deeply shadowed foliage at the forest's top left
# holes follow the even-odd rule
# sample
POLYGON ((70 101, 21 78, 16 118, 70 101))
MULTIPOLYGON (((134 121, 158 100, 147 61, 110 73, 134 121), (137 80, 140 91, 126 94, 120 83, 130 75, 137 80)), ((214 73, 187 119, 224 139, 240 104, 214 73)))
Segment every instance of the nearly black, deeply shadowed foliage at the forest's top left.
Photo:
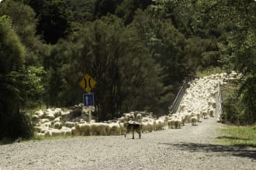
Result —
POLYGON ((36 12, 37 33, 42 35, 47 43, 55 44, 58 39, 67 36, 70 12, 66 0, 30 0, 26 4, 36 12))

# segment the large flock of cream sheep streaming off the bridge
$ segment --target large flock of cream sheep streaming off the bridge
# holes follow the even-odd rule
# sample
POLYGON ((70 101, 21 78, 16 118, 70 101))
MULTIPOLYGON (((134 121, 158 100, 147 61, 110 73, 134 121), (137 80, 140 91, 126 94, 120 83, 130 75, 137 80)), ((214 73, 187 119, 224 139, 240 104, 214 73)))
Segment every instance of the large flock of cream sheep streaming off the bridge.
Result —
MULTIPOLYGON (((164 128, 182 128, 185 124, 198 125, 202 119, 216 115, 216 93, 223 79, 239 78, 237 73, 220 73, 197 78, 189 83, 181 104, 175 114, 166 114, 154 118, 152 113, 133 111, 123 114, 116 120, 106 122, 86 122, 85 119, 67 121, 71 110, 47 109, 36 111, 32 121, 37 136, 76 136, 76 135, 122 135, 126 134, 126 122, 141 124, 142 133, 164 130, 164 128)), ((88 108, 83 107, 86 114, 88 108)))

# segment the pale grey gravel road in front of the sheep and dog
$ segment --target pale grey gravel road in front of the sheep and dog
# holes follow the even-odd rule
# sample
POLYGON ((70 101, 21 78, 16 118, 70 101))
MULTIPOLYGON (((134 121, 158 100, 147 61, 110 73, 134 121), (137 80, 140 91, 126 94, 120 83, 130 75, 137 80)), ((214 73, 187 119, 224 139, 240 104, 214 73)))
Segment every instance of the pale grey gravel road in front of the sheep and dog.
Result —
POLYGON ((5 169, 256 169, 256 149, 216 145, 223 124, 211 117, 198 126, 185 124, 142 134, 139 139, 97 136, 26 141, 0 145, 5 169))

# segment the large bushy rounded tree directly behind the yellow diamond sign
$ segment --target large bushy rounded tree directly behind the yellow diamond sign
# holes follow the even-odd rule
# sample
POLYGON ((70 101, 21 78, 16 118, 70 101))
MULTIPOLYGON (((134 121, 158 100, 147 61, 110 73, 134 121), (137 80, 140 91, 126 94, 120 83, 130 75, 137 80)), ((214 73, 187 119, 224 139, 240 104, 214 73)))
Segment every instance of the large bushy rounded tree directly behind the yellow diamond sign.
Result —
POLYGON ((56 50, 55 58, 62 56, 61 82, 65 84, 58 95, 69 92, 68 98, 81 101, 78 83, 88 73, 97 82, 92 92, 100 121, 119 117, 121 111, 152 108, 161 92, 160 68, 137 39, 136 32, 126 29, 113 15, 75 32, 68 41, 60 42, 56 50), (142 97, 147 97, 144 102, 142 97))

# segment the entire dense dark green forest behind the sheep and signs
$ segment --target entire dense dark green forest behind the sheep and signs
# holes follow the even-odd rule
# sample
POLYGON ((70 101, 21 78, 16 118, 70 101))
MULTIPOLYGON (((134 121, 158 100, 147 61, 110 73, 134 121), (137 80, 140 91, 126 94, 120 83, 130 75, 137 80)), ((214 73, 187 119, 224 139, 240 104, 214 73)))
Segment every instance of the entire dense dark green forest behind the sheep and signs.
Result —
POLYGON ((85 73, 105 121, 166 114, 186 77, 235 70, 229 114, 256 121, 254 0, 2 0, 0 59, 0 139, 33 135, 23 110, 81 103, 85 73))

